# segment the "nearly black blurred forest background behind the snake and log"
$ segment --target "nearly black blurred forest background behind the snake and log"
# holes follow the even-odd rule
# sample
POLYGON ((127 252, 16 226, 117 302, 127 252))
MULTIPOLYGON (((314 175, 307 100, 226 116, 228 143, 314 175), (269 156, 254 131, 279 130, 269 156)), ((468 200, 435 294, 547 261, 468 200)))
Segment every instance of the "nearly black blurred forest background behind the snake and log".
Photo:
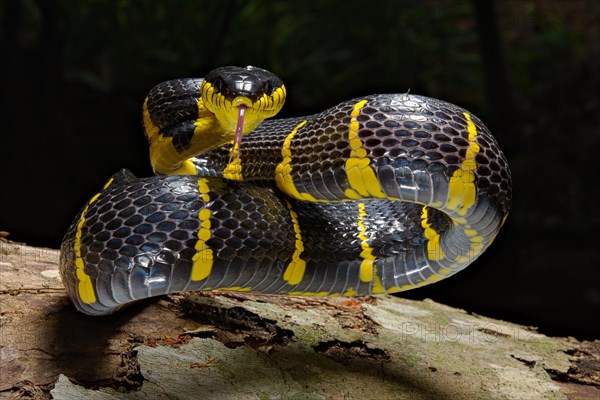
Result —
POLYGON ((280 116, 370 93, 461 105, 512 168, 513 211, 466 271, 407 292, 600 337, 600 2, 4 1, 0 231, 57 248, 122 167, 150 175, 140 108, 160 81, 256 65, 280 116))

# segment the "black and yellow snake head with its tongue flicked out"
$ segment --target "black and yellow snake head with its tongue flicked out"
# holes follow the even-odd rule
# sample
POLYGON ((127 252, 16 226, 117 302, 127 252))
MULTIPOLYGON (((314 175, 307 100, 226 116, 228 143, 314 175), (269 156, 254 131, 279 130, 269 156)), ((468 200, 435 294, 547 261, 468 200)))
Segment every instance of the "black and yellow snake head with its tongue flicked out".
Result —
POLYGON ((214 69, 202 81, 200 91, 203 105, 225 131, 236 132, 238 144, 242 134, 281 110, 286 95, 279 77, 253 66, 214 69))

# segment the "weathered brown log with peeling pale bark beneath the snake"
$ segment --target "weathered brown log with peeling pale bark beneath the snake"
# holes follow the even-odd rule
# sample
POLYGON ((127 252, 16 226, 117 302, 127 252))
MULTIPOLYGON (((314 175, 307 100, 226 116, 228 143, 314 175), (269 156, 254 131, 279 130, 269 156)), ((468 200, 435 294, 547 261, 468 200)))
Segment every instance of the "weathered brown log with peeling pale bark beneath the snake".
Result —
POLYGON ((58 251, 0 240, 0 398, 600 398, 600 342, 431 301, 206 293, 77 313, 58 251))

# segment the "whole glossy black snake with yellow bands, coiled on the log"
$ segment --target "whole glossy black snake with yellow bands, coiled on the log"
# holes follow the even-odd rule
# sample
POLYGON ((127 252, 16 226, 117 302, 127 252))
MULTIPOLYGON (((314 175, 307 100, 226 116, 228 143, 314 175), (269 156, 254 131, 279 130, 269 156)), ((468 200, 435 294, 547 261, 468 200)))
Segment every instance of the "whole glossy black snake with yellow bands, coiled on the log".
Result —
POLYGON ((150 91, 144 126, 158 175, 115 174, 62 244, 80 311, 191 290, 398 292, 453 275, 494 240, 510 172, 470 112, 383 94, 263 122, 285 95, 255 67, 150 91))

